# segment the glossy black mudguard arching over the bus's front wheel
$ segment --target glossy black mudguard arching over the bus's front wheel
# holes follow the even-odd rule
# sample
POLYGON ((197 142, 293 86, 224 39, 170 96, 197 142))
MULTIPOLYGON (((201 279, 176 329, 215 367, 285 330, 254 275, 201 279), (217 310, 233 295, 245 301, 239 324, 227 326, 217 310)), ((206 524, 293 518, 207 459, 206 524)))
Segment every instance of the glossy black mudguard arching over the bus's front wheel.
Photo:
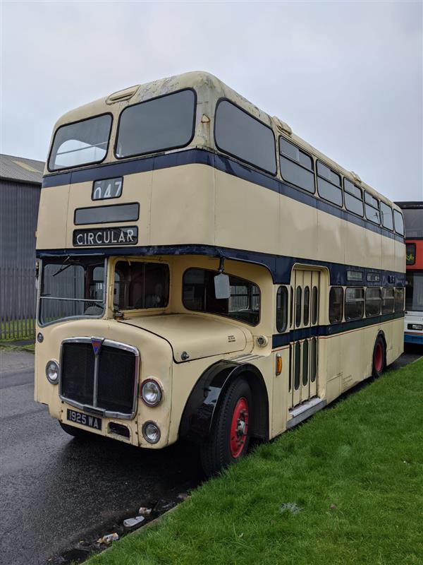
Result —
POLYGON ((200 376, 190 393, 180 421, 179 436, 201 444, 209 436, 219 400, 233 379, 242 374, 252 389, 252 435, 269 437, 269 399, 264 379, 257 367, 231 361, 218 361, 200 376))

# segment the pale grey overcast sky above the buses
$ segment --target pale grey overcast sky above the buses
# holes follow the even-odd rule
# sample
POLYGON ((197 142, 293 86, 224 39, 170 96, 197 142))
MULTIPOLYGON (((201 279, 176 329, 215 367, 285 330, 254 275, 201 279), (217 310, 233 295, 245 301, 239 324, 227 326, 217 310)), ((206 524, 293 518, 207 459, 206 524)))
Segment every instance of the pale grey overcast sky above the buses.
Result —
POLYGON ((61 114, 214 73, 393 200, 423 199, 422 2, 2 1, 1 153, 61 114))

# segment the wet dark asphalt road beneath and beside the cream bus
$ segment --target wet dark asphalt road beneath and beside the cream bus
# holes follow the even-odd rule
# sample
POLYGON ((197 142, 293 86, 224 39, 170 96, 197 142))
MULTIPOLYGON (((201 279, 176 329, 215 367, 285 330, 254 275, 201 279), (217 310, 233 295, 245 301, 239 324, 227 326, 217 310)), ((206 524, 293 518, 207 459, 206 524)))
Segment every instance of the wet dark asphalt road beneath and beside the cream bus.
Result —
MULTIPOLYGON (((91 545, 140 506, 175 504, 203 480, 190 446, 72 439, 33 400, 32 353, 0 355, 1 563, 64 563, 66 550, 91 545)), ((409 352, 395 368, 418 357, 409 352)))

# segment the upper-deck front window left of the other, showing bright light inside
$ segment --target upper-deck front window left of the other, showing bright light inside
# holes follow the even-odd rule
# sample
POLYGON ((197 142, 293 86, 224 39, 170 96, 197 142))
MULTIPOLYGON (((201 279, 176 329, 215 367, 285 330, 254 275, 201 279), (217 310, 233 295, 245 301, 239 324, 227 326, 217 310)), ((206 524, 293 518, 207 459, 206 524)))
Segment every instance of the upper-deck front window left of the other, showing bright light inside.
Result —
POLYGON ((54 134, 49 171, 68 169, 104 160, 109 145, 111 115, 60 126, 54 134))

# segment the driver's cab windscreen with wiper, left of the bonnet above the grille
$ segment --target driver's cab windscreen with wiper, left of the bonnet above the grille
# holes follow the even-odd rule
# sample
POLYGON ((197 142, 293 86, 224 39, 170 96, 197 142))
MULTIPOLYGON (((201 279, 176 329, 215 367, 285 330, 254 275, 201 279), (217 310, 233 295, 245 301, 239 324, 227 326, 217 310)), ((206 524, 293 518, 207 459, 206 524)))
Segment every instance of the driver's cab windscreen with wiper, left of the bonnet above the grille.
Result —
POLYGON ((39 323, 75 316, 102 316, 105 270, 102 258, 61 257, 42 263, 39 323))

